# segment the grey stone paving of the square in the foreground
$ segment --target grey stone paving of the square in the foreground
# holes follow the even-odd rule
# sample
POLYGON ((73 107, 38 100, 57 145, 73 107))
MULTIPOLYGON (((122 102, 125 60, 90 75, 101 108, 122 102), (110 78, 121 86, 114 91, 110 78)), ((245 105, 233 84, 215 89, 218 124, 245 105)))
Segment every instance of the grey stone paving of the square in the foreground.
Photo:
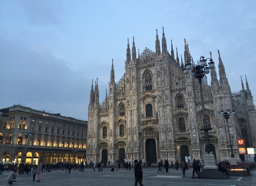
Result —
MULTIPOLYGON (((131 171, 126 171, 122 167, 119 171, 111 172, 111 168, 115 166, 107 166, 103 172, 98 172, 98 168, 94 172, 92 168, 85 168, 84 172, 71 171, 71 174, 65 174, 65 171, 52 171, 50 173, 43 172, 41 174, 41 182, 31 182, 32 175, 18 176, 13 185, 54 185, 54 186, 70 186, 70 185, 85 185, 85 186, 132 186, 134 183, 133 166, 131 171)), ((142 167, 143 169, 143 185, 145 186, 192 186, 192 185, 213 185, 213 186, 256 186, 256 171, 252 172, 252 176, 235 177, 232 176, 228 180, 218 179, 191 179, 192 170, 186 170, 186 177, 182 176, 182 172, 174 169, 169 169, 169 173, 157 173, 156 167, 142 167)), ((0 175, 0 185, 9 185, 7 176, 10 172, 3 172, 0 175)), ((36 181, 38 177, 36 176, 36 181)))

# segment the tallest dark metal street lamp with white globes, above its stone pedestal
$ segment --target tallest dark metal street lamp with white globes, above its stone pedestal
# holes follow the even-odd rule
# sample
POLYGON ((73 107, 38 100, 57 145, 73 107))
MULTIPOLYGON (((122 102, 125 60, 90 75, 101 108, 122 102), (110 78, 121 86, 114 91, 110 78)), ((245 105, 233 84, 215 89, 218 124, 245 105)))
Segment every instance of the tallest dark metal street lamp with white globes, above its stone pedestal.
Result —
POLYGON ((208 126, 206 124, 206 117, 205 117, 205 105, 204 105, 204 97, 203 97, 203 90, 202 90, 202 78, 205 76, 205 74, 210 73, 210 69, 215 68, 214 62, 211 58, 205 59, 204 56, 200 57, 200 61, 197 61, 197 64, 194 63, 193 60, 188 59, 187 63, 185 64, 184 74, 188 74, 189 70, 192 69, 192 74, 195 78, 198 79, 199 85, 200 85, 200 93, 201 93, 201 104, 202 104, 202 111, 203 111, 203 126, 200 128, 201 131, 205 131, 205 141, 206 141, 206 146, 205 146, 205 151, 207 153, 210 153, 211 150, 211 145, 210 145, 210 140, 209 140, 209 130, 212 130, 211 126, 208 126), (207 60, 209 59, 209 67, 207 65, 207 60))

